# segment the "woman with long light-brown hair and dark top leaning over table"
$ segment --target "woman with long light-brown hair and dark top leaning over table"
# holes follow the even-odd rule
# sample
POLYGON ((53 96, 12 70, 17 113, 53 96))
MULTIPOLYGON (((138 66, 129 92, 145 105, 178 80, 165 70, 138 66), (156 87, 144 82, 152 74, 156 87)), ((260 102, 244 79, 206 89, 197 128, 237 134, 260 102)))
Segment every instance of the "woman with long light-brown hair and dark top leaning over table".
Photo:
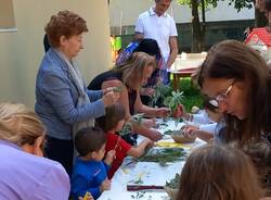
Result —
MULTIPOLYGON (((165 117, 169 109, 146 107, 142 104, 139 95, 141 86, 147 83, 155 67, 155 58, 144 52, 134 52, 122 65, 98 75, 88 88, 99 90, 121 86, 120 102, 126 109, 126 120, 136 113, 145 113, 150 117, 165 117)), ((153 124, 146 121, 145 125, 150 127, 153 124)), ((155 141, 162 139, 160 133, 147 126, 134 126, 133 130, 155 141)))

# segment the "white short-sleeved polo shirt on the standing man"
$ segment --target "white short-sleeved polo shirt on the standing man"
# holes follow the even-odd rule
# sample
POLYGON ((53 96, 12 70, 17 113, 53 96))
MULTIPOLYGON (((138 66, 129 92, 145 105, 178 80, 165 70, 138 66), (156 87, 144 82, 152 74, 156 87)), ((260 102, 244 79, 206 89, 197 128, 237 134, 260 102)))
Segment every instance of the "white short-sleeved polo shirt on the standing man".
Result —
POLYGON ((136 33, 143 34, 144 38, 155 39, 167 62, 170 54, 169 37, 178 36, 175 20, 168 13, 158 16, 154 12, 154 8, 151 8, 139 15, 136 33))

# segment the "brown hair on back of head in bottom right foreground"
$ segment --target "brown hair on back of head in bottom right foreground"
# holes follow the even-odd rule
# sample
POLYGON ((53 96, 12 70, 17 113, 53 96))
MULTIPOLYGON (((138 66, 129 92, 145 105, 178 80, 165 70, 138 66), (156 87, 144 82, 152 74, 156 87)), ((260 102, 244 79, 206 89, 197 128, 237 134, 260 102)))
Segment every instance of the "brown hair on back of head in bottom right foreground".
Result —
POLYGON ((207 145, 188 158, 177 200, 258 200, 263 196, 249 158, 235 148, 207 145))

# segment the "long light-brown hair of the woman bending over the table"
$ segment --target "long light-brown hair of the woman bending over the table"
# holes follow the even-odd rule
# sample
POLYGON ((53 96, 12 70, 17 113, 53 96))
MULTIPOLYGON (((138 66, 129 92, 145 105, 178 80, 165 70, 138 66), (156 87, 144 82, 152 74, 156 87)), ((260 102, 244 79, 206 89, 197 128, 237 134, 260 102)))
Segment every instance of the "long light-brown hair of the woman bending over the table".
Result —
POLYGON ((134 88, 134 85, 139 86, 139 82, 141 83, 143 78, 144 67, 150 65, 155 70, 156 61, 154 57, 144 52, 134 52, 122 65, 115 70, 122 72, 121 79, 125 85, 134 88))

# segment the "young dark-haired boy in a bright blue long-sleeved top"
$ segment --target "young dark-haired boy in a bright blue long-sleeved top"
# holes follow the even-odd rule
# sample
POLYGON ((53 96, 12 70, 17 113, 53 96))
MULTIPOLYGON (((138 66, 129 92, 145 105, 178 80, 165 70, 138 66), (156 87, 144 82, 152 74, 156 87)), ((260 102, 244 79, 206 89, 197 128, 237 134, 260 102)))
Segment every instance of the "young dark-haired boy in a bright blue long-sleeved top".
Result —
POLYGON ((98 199, 104 190, 111 189, 107 178, 115 151, 105 154, 106 134, 96 127, 83 128, 75 137, 75 147, 79 153, 72 175, 72 195, 75 199, 90 192, 98 199))

